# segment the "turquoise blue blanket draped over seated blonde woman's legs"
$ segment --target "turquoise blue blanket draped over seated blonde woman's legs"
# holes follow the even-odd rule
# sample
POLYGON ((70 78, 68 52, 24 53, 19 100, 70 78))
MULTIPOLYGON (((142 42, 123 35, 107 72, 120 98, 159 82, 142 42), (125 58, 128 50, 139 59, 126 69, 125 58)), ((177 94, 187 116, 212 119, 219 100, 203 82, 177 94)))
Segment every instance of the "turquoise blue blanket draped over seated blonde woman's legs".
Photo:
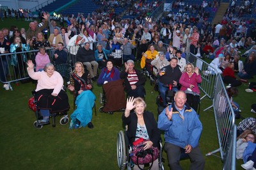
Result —
POLYGON ((83 91, 80 95, 77 96, 77 108, 70 116, 70 118, 72 119, 72 124, 75 124, 76 119, 78 119, 81 122, 81 125, 85 127, 92 120, 92 108, 95 99, 95 95, 90 90, 83 91))

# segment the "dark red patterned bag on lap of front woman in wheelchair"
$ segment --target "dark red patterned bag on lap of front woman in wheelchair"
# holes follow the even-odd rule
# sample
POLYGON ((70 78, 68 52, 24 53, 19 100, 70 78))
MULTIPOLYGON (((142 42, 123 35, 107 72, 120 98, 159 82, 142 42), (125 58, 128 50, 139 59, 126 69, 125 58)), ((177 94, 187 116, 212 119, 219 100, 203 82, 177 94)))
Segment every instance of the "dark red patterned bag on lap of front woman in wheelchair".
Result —
MULTIPOLYGON (((140 139, 138 139, 140 140, 140 139)), ((144 150, 145 142, 148 140, 143 140, 141 143, 138 143, 136 146, 133 146, 131 153, 131 160, 134 164, 138 165, 140 169, 142 169, 139 165, 152 163, 148 169, 151 169, 153 166, 154 160, 156 160, 159 156, 159 150, 157 147, 151 146, 147 150, 144 150)))

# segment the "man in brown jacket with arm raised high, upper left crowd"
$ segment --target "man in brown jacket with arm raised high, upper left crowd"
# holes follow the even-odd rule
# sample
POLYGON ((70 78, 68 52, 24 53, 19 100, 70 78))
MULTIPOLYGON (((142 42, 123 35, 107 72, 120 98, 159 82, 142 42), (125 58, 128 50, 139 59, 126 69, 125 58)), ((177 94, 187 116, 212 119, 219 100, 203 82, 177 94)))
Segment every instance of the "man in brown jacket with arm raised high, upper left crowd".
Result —
POLYGON ((44 22, 43 22, 43 26, 42 27, 38 27, 35 22, 30 22, 29 23, 29 29, 26 32, 26 36, 31 41, 33 41, 33 39, 36 38, 37 33, 42 32, 42 30, 45 29, 45 27, 48 26, 48 16, 47 16, 46 13, 44 13, 43 18, 44 18, 44 22))

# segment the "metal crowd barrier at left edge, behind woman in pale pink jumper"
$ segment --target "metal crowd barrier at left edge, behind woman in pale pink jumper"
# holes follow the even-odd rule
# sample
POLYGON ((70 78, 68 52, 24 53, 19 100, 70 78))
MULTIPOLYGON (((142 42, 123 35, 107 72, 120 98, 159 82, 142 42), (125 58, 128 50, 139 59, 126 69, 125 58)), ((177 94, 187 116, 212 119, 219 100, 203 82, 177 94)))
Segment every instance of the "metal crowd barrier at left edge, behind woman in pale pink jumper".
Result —
MULTIPOLYGON (((53 48, 45 50, 51 61, 52 50, 53 48)), ((38 50, 29 50, 24 52, 0 54, 0 82, 3 84, 9 84, 10 89, 13 90, 11 82, 29 79, 26 61, 28 59, 35 59, 37 52, 38 50), (16 61, 15 56, 17 56, 16 61)))

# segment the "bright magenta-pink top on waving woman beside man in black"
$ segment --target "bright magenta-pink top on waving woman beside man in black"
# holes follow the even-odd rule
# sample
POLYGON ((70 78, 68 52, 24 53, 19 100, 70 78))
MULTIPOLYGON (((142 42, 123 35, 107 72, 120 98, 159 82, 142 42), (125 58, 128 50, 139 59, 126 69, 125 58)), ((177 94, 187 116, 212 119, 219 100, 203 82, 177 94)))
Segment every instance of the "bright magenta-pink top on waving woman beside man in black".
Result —
POLYGON ((187 72, 183 72, 179 83, 182 85, 180 90, 186 91, 186 89, 189 88, 191 84, 193 84, 195 87, 192 89, 193 92, 200 94, 200 90, 198 88, 198 83, 202 82, 201 75, 196 73, 192 73, 191 77, 189 77, 187 72))

